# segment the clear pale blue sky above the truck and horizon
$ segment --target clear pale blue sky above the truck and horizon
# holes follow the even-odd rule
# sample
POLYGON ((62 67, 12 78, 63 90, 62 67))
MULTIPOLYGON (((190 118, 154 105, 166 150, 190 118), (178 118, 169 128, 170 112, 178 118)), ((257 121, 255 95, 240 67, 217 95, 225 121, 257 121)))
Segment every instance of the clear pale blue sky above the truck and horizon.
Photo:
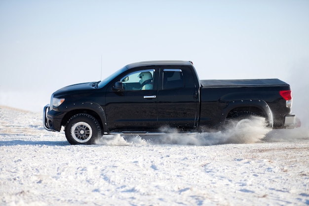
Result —
POLYGON ((0 104, 98 81, 101 55, 102 78, 146 60, 191 60, 201 79, 309 70, 309 0, 0 0, 0 28, 0 104))

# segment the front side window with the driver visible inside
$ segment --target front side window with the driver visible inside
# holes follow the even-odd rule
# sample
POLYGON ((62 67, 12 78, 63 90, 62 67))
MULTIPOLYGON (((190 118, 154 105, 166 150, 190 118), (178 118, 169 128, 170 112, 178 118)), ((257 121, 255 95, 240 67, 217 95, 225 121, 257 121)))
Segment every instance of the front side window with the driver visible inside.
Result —
POLYGON ((154 87, 154 69, 132 72, 120 79, 124 90, 152 90, 154 87))

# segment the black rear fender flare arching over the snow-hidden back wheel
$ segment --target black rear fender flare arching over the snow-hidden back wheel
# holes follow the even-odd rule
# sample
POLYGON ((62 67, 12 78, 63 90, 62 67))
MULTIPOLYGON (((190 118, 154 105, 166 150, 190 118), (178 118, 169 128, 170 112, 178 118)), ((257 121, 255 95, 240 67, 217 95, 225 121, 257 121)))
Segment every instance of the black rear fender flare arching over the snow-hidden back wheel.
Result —
POLYGON ((241 99, 226 102, 226 107, 222 110, 221 123, 225 123, 228 114, 236 108, 240 107, 256 107, 259 108, 268 120, 269 127, 273 127, 272 112, 269 105, 261 99, 241 99))

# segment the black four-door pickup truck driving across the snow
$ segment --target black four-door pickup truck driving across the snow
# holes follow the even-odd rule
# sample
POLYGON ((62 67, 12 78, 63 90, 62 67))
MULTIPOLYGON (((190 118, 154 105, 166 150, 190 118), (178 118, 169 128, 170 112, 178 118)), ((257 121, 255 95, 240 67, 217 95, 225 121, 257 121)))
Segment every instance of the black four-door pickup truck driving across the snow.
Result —
POLYGON ((271 128, 294 127, 290 85, 278 79, 199 80, 191 61, 126 65, 99 82, 54 92, 43 110, 49 131, 64 126, 71 144, 104 134, 222 130, 228 120, 264 117, 271 128))

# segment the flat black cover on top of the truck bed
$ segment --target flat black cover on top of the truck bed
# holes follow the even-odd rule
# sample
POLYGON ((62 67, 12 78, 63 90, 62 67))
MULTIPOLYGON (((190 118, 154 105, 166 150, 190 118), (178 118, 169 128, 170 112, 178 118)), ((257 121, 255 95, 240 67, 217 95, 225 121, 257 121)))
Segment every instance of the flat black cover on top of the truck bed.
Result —
POLYGON ((201 80, 203 87, 251 87, 289 85, 279 79, 254 80, 201 80))

